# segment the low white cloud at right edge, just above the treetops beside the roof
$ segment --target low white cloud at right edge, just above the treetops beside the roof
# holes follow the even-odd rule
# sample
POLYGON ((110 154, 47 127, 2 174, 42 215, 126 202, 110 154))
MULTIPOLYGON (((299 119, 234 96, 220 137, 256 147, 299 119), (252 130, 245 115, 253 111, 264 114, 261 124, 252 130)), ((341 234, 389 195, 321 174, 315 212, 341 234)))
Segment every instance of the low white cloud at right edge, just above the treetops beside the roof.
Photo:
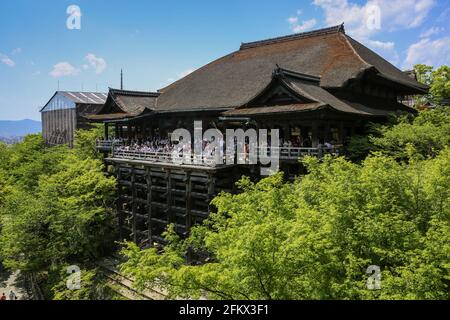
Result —
POLYGON ((441 66, 450 63, 450 37, 436 40, 421 39, 412 44, 407 51, 403 64, 405 69, 412 68, 415 64, 423 63, 431 66, 441 66))

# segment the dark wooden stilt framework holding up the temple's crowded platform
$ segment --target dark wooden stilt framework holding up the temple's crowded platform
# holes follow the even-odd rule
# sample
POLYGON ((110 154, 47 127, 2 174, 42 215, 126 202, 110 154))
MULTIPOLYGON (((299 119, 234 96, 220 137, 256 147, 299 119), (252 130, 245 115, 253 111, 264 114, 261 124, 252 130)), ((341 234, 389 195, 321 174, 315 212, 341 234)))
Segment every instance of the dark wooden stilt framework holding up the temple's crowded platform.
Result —
POLYGON ((165 167, 115 163, 117 212, 123 239, 141 247, 164 244, 170 224, 186 237, 192 226, 208 218, 210 202, 221 191, 232 192, 236 170, 165 167))

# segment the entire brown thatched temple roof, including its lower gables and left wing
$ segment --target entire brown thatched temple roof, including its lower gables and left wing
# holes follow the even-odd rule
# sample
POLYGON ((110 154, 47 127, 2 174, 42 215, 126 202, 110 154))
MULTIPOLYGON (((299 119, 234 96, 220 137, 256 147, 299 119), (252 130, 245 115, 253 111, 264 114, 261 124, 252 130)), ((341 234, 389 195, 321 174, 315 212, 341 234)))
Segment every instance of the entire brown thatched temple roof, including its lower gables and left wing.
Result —
POLYGON ((406 108, 388 99, 377 101, 375 97, 366 99, 371 101, 362 105, 330 93, 364 76, 395 87, 399 94, 420 94, 428 89, 346 35, 341 25, 244 43, 238 51, 205 65, 158 93, 110 89, 104 107, 91 118, 114 120, 148 113, 199 111, 242 115, 325 107, 360 115, 385 115, 406 108), (290 107, 258 105, 263 109, 249 110, 249 102, 270 87, 274 70, 283 70, 287 76, 284 85, 308 103, 303 101, 303 106, 293 103, 290 107), (388 106, 389 103, 392 105, 388 106))

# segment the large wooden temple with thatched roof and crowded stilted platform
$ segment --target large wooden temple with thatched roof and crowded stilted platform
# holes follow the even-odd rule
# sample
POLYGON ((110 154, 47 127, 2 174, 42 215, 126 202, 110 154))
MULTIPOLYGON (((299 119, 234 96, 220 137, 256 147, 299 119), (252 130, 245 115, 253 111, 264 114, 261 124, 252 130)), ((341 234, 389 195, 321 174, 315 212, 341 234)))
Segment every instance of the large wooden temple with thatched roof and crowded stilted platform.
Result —
POLYGON ((208 216, 210 200, 232 191, 244 165, 177 165, 158 154, 116 149, 127 141, 173 130, 279 129, 281 168, 290 171, 305 154, 320 155, 324 143, 345 148, 368 122, 386 121, 393 113, 415 110, 405 97, 428 88, 352 39, 344 26, 244 43, 159 90, 110 89, 90 121, 105 124, 99 148, 119 181, 118 212, 124 237, 146 246, 162 242, 173 223, 180 234, 208 216))

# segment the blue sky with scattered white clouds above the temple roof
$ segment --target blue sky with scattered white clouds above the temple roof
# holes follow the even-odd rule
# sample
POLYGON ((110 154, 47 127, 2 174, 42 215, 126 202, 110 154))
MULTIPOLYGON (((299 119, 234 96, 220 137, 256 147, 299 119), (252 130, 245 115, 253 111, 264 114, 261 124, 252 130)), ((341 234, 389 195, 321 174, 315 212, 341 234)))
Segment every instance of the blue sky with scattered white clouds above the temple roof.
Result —
POLYGON ((58 81, 106 92, 123 68, 126 89, 157 90, 241 42, 342 22, 399 68, 450 63, 450 0, 3 0, 0 119, 40 119, 58 81))

